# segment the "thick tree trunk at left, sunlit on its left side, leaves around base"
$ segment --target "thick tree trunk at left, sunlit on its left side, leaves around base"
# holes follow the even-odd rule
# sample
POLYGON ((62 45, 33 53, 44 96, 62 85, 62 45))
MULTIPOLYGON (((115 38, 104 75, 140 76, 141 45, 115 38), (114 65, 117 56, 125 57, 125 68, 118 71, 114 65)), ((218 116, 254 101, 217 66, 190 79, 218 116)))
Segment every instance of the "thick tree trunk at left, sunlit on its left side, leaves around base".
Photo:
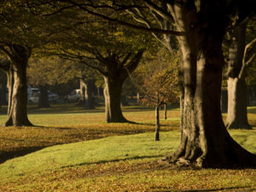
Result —
POLYGON ((27 49, 20 45, 12 45, 9 67, 8 88, 9 88, 9 107, 8 118, 5 126, 31 126, 32 123, 27 118, 27 82, 26 67, 30 54, 27 49))

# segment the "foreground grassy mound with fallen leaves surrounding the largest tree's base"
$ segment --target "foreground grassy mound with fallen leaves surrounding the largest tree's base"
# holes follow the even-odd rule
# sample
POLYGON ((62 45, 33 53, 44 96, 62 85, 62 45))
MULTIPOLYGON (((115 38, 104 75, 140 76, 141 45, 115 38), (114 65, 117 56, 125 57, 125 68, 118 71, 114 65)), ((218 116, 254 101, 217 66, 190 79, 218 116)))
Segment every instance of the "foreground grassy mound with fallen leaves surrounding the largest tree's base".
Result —
MULTIPOLYGON (((256 131, 230 131, 256 153, 256 131)), ((177 170, 162 166, 161 156, 177 148, 178 131, 106 137, 44 148, 0 165, 5 191, 158 191, 168 189, 253 189, 256 172, 244 170, 177 170)))

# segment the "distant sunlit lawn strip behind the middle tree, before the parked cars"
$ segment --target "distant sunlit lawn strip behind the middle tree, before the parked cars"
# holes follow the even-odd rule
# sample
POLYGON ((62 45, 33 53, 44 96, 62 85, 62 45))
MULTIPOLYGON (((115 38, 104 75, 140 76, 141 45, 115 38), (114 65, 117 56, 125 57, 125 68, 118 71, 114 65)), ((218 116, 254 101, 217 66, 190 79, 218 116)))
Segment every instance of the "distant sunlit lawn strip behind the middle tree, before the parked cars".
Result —
MULTIPOLYGON (((126 119, 138 123, 154 123, 153 109, 128 106, 123 110, 126 119)), ((160 111, 160 115, 163 117, 163 111, 160 111)), ((172 120, 179 120, 178 109, 175 108, 169 111, 168 117, 172 120)), ((6 107, 0 108, 0 125, 3 125, 6 118, 6 107)), ((75 103, 52 104, 51 108, 37 108, 35 104, 29 104, 28 119, 33 125, 38 126, 88 125, 105 122, 105 113, 103 107, 84 110, 75 103)))

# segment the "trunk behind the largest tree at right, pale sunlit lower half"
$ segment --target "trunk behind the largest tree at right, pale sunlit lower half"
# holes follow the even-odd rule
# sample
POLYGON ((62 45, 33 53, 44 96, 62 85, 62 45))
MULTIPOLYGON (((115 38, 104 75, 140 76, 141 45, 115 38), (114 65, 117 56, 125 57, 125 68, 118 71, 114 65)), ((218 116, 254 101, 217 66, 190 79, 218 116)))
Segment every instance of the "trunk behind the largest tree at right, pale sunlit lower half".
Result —
POLYGON ((252 129, 247 120, 247 84, 242 60, 245 49, 247 24, 234 30, 229 48, 228 116, 229 129, 252 129))

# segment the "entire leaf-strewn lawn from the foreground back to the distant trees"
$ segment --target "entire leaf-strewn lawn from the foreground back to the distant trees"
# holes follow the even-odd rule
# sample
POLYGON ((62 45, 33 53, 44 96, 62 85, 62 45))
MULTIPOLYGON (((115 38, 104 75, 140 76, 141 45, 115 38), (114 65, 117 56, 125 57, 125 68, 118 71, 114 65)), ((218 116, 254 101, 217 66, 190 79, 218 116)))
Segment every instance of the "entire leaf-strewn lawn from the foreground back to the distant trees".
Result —
MULTIPOLYGON (((161 119, 160 142, 154 142, 153 110, 127 107, 125 117, 137 124, 106 124, 102 108, 64 109, 30 106, 29 119, 39 126, 0 127, 0 191, 256 190, 254 169, 177 169, 159 161, 179 143, 178 109, 161 119)), ((253 130, 230 134, 256 153, 256 108, 248 112, 253 130)))

